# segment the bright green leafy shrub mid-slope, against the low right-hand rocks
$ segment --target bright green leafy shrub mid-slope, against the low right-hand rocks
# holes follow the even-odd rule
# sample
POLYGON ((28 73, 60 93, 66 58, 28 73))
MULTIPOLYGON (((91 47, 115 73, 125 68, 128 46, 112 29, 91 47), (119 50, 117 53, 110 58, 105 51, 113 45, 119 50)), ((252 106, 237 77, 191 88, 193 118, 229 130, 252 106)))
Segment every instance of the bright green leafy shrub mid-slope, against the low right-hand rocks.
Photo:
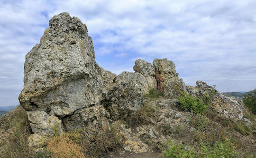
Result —
POLYGON ((180 106, 182 110, 188 110, 193 113, 206 113, 208 106, 203 104, 203 100, 200 100, 189 94, 182 93, 178 100, 180 101, 180 106))

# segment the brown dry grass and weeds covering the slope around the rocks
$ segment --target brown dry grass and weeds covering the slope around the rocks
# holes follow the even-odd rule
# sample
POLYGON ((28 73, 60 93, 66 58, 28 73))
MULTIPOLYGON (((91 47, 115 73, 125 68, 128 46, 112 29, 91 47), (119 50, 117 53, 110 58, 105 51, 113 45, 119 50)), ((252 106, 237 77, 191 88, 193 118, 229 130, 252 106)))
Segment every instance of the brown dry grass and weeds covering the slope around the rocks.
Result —
MULTIPOLYGON (((150 119, 155 119, 157 109, 145 104, 138 115, 131 118, 132 124, 120 121, 113 124, 111 130, 106 130, 94 137, 93 142, 89 142, 83 130, 75 130, 53 136, 45 146, 35 152, 28 145, 28 136, 31 134, 29 121, 26 112, 21 106, 17 106, 12 112, 0 118, 0 157, 104 157, 111 152, 121 152, 125 136, 120 132, 121 124, 126 126, 139 126, 150 123, 150 119)), ((214 117, 214 112, 207 114, 194 114, 191 118, 190 126, 194 131, 188 130, 180 125, 176 128, 165 127, 159 132, 168 137, 172 137, 175 143, 181 143, 185 149, 202 153, 202 145, 214 150, 216 142, 230 144, 230 149, 237 152, 238 157, 256 156, 256 129, 255 115, 244 110, 244 116, 253 124, 246 122, 232 122, 214 117), (187 147, 187 148, 186 148, 187 147)), ((145 140, 148 141, 148 140, 145 140)), ((152 142, 151 142, 152 143, 152 142)), ((166 150, 164 144, 148 144, 152 150, 166 150)))

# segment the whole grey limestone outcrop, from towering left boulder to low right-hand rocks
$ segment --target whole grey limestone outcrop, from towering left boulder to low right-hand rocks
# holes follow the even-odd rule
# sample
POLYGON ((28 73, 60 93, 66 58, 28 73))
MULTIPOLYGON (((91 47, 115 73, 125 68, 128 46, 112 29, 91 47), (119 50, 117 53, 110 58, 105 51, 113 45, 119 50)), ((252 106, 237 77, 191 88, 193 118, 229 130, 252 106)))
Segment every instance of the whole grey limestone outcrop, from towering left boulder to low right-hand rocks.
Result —
POLYGON ((197 114, 182 110, 177 100, 185 93, 199 100, 214 91, 208 109, 215 119, 253 124, 244 118, 240 100, 224 96, 202 81, 196 87, 186 86, 167 58, 155 59, 153 64, 136 60, 133 69, 134 73, 115 75, 99 67, 86 25, 68 13, 53 16, 24 64, 19 101, 30 122, 30 146, 40 148, 56 131, 74 130, 82 131, 84 142, 96 145, 99 137, 115 127, 124 152, 158 151, 167 140, 175 140, 178 129, 186 135, 198 130, 191 123, 197 114), (162 96, 145 97, 151 90, 162 96))

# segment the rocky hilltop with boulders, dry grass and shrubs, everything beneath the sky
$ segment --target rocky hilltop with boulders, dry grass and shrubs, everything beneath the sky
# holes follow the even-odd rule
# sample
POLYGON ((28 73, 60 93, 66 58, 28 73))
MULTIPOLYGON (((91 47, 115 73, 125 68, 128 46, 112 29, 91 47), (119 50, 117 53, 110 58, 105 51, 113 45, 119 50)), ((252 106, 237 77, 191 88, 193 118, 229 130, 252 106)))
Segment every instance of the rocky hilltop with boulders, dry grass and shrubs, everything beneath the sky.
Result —
POLYGON ((253 157, 256 118, 215 86, 184 83, 167 58, 116 75, 87 27, 53 16, 26 54, 20 105, 0 118, 2 157, 253 157))

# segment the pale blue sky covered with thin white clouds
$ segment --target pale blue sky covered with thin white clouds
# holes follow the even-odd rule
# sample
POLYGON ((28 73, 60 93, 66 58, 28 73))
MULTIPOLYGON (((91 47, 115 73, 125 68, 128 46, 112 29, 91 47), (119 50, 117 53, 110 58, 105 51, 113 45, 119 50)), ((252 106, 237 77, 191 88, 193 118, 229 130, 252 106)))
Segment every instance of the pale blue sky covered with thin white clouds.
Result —
POLYGON ((25 55, 61 12, 87 25, 96 62, 113 73, 133 72, 139 58, 168 58, 186 85, 253 90, 255 8, 255 0, 0 0, 0 106, 19 104, 25 55))

